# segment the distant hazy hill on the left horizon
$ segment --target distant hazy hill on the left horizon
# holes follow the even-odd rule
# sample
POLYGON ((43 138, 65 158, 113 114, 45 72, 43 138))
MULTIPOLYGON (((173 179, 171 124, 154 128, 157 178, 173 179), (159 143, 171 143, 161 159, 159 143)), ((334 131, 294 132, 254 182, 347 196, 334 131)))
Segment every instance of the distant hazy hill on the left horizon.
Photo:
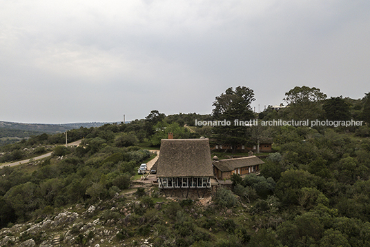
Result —
POLYGON ((23 124, 8 121, 0 121, 0 146, 14 144, 21 139, 27 139, 32 135, 43 133, 56 134, 76 128, 90 128, 103 126, 103 122, 72 123, 72 124, 23 124))

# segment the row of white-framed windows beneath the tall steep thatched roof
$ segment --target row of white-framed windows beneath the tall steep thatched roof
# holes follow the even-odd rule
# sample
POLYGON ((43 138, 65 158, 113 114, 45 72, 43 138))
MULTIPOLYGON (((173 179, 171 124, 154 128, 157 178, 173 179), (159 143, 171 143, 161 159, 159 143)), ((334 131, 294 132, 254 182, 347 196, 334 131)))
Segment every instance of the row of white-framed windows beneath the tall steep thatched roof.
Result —
POLYGON ((209 177, 164 177, 159 178, 159 188, 208 188, 209 177))

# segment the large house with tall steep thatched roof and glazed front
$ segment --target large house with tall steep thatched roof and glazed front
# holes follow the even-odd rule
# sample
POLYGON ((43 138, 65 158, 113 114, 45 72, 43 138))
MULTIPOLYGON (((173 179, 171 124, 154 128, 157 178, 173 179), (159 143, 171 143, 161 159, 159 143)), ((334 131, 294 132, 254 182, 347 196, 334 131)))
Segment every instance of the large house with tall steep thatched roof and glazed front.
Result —
POLYGON ((213 177, 208 139, 162 139, 159 188, 206 188, 213 177))

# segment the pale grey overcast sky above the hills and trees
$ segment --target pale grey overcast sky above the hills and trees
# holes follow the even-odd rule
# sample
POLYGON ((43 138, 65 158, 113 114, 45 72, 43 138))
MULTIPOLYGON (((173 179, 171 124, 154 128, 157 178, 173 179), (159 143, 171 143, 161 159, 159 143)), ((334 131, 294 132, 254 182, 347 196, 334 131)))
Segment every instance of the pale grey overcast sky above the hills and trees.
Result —
POLYGON ((258 111, 295 86, 370 91, 370 1, 0 0, 0 121, 211 113, 226 88, 258 111))

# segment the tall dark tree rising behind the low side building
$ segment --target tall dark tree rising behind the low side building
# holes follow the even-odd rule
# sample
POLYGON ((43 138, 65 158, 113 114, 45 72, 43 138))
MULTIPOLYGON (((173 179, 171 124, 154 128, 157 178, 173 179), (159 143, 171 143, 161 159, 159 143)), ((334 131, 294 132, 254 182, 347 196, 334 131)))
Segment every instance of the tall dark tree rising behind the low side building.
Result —
MULTIPOLYGON (((227 144, 235 147, 246 144, 249 139, 249 130, 247 126, 237 126, 234 120, 249 121, 253 119, 251 103, 254 101, 253 90, 245 86, 228 88, 213 102, 212 117, 215 121, 230 121, 229 125, 216 125, 213 127, 215 137, 220 144, 227 144)), ((235 148, 234 148, 235 150, 235 148)))

